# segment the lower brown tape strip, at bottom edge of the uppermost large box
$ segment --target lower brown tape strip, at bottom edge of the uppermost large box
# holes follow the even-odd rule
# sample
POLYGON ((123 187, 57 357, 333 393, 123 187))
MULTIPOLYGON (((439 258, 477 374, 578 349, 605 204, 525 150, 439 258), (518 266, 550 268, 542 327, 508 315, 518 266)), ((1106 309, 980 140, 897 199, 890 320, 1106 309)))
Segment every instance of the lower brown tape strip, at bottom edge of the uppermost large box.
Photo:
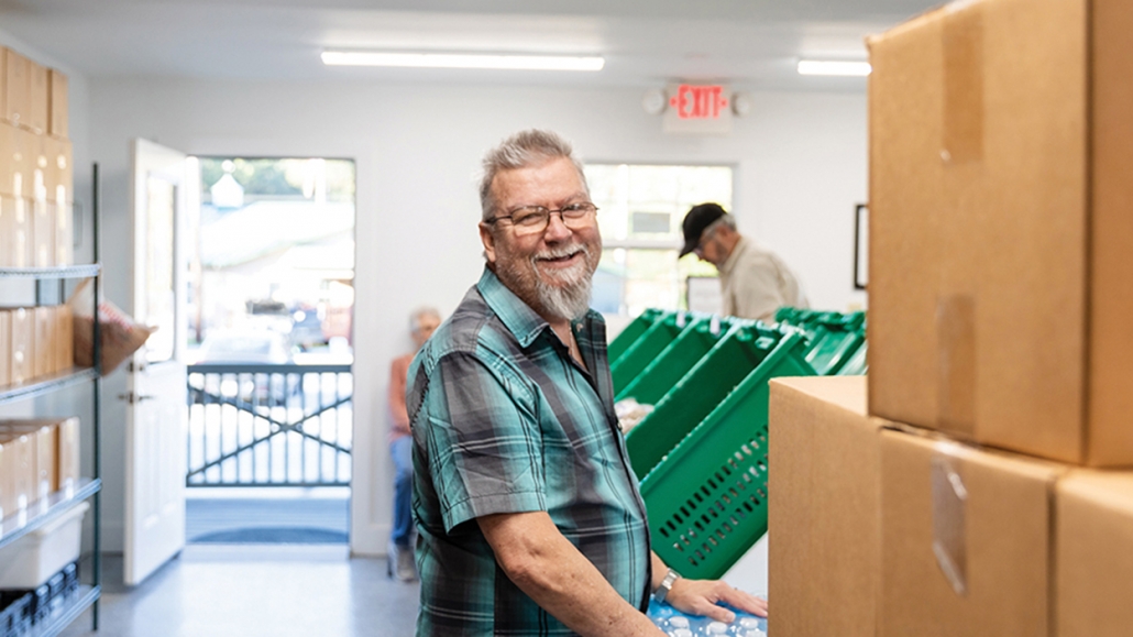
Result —
POLYGON ((949 295, 937 300, 937 424, 971 436, 976 431, 976 300, 949 295))

